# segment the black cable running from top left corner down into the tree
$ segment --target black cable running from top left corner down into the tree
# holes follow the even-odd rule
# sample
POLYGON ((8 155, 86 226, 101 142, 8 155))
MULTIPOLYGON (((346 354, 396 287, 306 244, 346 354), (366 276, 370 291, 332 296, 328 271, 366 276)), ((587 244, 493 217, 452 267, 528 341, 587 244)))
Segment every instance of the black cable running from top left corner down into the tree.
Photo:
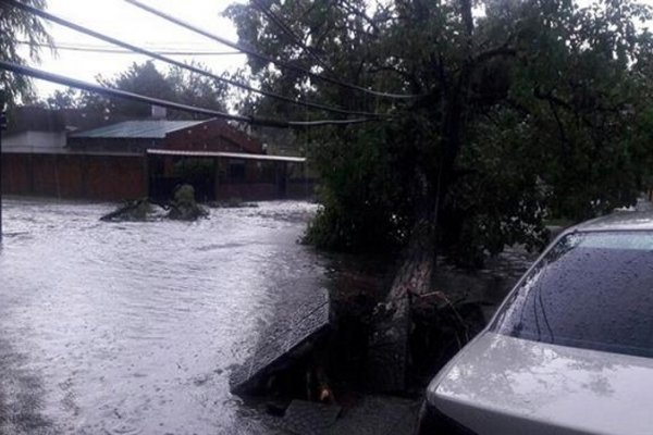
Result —
POLYGON ((60 25, 62 25, 64 27, 72 28, 75 32, 79 32, 79 33, 83 33, 85 35, 93 36, 94 38, 97 38, 97 39, 103 40, 106 42, 109 42, 109 44, 112 44, 112 45, 125 48, 125 49, 134 51, 136 53, 145 54, 145 55, 150 57, 152 59, 157 59, 157 60, 159 60, 161 62, 165 62, 165 63, 169 63, 171 65, 175 65, 175 66, 178 66, 181 69, 192 71, 192 72, 194 72, 196 74, 200 74, 200 75, 204 75, 206 77, 209 77, 209 78, 212 78, 212 79, 215 79, 215 80, 227 83, 227 84, 230 84, 232 86, 238 87, 241 89, 248 90, 250 92, 260 94, 262 96, 266 96, 266 97, 269 97, 269 98, 274 98, 274 99, 278 99, 278 100, 282 100, 282 101, 288 102, 291 104, 303 105, 303 107, 318 109, 318 110, 323 110, 323 111, 332 112, 332 113, 338 113, 338 114, 345 114, 345 115, 350 115, 352 114, 352 115, 362 115, 362 116, 378 116, 378 114, 375 114, 375 113, 360 112, 360 111, 350 111, 350 110, 333 108, 331 105, 324 105, 324 104, 309 102, 309 101, 295 100, 293 98, 285 97, 285 96, 282 96, 280 94, 270 92, 270 91, 262 90, 262 89, 257 89, 257 88, 254 88, 254 87, 251 87, 249 85, 245 85, 243 83, 233 80, 231 78, 221 77, 221 76, 215 75, 215 74, 213 74, 211 72, 202 70, 202 69, 200 69, 198 66, 189 65, 189 64, 186 64, 184 62, 180 62, 180 61, 176 61, 174 59, 167 58, 167 57, 164 57, 162 54, 158 54, 158 53, 156 53, 153 51, 146 50, 144 48, 134 46, 134 45, 128 44, 128 42, 124 42, 124 41, 122 41, 120 39, 115 39, 115 38, 113 38, 111 36, 107 36, 107 35, 100 34, 98 32, 95 32, 95 30, 91 30, 91 29, 89 29, 87 27, 84 27, 84 26, 82 26, 79 24, 75 24, 75 23, 72 23, 72 22, 70 22, 67 20, 64 20, 64 18, 61 18, 59 16, 52 15, 51 13, 48 13, 46 11, 41 11, 41 10, 33 8, 30 5, 21 3, 20 1, 16 1, 16 0, 3 0, 3 3, 11 4, 11 5, 13 5, 13 7, 17 8, 17 9, 21 9, 21 10, 29 12, 29 13, 32 13, 34 15, 40 16, 41 18, 45 18, 45 20, 51 21, 53 23, 60 24, 60 25))

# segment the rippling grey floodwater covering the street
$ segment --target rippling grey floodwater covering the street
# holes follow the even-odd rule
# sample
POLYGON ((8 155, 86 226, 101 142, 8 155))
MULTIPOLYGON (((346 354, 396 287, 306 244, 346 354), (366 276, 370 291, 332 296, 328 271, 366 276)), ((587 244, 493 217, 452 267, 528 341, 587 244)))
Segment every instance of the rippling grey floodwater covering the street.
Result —
POLYGON ((0 434, 264 434, 229 374, 320 285, 315 206, 103 223, 113 204, 4 200, 0 434), (297 284, 300 283, 300 284, 297 284))

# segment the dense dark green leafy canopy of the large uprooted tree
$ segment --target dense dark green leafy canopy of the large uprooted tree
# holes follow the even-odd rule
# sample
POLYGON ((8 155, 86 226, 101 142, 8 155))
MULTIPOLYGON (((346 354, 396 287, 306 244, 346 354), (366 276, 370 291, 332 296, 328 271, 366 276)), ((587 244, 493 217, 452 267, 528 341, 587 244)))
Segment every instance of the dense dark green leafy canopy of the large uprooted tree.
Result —
POLYGON ((651 11, 636 1, 251 0, 229 15, 261 52, 419 96, 377 98, 249 60, 264 87, 390 115, 301 139, 322 181, 307 238, 319 246, 426 235, 478 265, 505 244, 541 246, 545 219, 605 213, 650 186, 651 11))

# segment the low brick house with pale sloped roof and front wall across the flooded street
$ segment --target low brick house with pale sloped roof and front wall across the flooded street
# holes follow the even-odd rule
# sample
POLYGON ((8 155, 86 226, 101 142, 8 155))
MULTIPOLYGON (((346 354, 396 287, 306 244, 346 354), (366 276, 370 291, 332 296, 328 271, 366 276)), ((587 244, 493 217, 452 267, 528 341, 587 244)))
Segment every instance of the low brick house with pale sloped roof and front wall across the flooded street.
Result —
POLYGON ((193 184, 205 200, 308 191, 303 158, 267 156, 260 142, 222 120, 116 122, 23 109, 2 135, 5 194, 163 199, 182 183, 193 184))

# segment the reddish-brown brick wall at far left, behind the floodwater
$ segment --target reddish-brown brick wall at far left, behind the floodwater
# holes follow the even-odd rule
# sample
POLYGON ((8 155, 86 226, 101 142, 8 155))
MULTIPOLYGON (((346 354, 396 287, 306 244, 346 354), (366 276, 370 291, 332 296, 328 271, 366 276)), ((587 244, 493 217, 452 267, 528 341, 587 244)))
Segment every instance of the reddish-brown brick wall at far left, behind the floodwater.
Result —
POLYGON ((2 192, 115 201, 147 195, 144 162, 131 156, 3 153, 2 192))

